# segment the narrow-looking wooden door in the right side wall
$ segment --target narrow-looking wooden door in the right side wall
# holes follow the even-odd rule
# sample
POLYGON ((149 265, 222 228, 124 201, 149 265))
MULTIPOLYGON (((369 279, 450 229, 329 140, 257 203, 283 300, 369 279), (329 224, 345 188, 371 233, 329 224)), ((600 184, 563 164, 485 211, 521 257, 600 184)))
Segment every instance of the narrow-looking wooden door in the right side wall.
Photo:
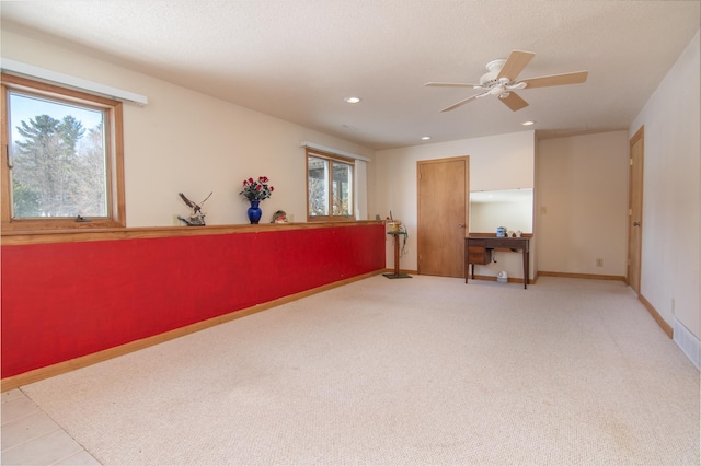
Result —
POLYGON ((643 236, 643 156, 645 127, 631 138, 628 210, 628 284, 640 294, 640 270, 643 236))

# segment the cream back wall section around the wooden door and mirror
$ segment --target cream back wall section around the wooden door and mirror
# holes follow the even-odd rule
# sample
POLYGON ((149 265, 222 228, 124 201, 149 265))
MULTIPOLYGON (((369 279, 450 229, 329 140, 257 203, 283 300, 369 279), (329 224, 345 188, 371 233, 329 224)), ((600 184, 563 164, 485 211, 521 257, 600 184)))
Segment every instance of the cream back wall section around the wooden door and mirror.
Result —
MULTIPOLYGON (((533 148, 535 132, 529 130, 376 152, 376 199, 369 205, 369 212, 383 219, 391 210, 392 215, 406 225, 409 242, 406 254, 400 260, 401 268, 416 270, 418 267, 416 162, 469 155, 470 190, 532 188, 533 148)), ((502 257, 504 260, 498 267, 480 268, 480 273, 496 276, 498 270, 506 270, 509 277, 524 276, 520 253, 505 253, 502 257), (507 259, 507 256, 513 257, 507 259)), ((388 241, 388 267, 393 260, 393 249, 388 241)))

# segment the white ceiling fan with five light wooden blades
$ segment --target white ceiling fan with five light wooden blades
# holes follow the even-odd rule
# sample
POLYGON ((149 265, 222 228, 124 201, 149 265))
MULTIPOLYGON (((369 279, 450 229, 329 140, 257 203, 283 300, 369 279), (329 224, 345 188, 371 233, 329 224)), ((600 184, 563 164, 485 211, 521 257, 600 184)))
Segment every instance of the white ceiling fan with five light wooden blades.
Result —
POLYGON ((552 74, 540 78, 525 79, 517 81, 518 74, 526 68, 528 62, 536 56, 532 51, 514 50, 506 60, 492 60, 486 63, 487 73, 480 78, 479 84, 467 82, 427 82, 424 85, 444 86, 444 88, 472 88, 483 91, 480 94, 463 98, 440 112, 449 112, 461 105, 472 102, 475 98, 494 95, 499 98, 512 110, 520 110, 528 106, 528 102, 524 101, 517 90, 531 88, 548 88, 551 85, 578 84, 586 82, 588 71, 577 71, 574 73, 552 74))

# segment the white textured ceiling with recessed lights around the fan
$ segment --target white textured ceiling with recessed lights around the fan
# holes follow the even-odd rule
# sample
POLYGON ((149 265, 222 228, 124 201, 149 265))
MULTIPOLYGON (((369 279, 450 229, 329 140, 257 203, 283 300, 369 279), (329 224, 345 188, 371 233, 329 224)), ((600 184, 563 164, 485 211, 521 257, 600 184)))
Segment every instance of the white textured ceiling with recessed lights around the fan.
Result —
MULTIPOLYGON (((627 129, 700 26, 701 2, 565 0, 2 1, 2 28, 372 149, 524 130, 627 129), (440 109, 514 49, 519 79, 588 70, 584 84, 526 89, 440 109), (357 95, 359 104, 343 97, 357 95)), ((90 78, 90 77, 83 77, 90 78)), ((699 83, 679 83, 699 85, 699 83)), ((130 90, 139 92, 139 90, 130 90)))

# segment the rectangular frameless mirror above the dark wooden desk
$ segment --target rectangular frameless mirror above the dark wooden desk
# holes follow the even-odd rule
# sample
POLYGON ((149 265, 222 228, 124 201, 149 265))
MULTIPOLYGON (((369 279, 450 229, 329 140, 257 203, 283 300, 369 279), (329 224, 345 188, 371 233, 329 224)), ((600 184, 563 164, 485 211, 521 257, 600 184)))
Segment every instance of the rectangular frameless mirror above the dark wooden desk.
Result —
POLYGON ((533 232, 533 189, 502 189, 470 193, 470 233, 507 230, 533 232))

